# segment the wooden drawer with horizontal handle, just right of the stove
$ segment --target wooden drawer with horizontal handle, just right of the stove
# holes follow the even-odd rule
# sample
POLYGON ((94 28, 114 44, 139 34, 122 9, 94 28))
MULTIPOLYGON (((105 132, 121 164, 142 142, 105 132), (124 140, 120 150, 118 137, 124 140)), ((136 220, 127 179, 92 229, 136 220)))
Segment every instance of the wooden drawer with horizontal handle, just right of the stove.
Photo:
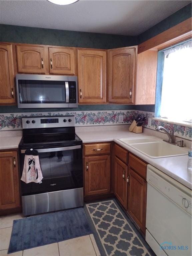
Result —
POLYGON ((84 148, 85 148, 85 151, 84 151, 85 156, 111 153, 110 143, 89 144, 89 145, 84 145, 84 148))

